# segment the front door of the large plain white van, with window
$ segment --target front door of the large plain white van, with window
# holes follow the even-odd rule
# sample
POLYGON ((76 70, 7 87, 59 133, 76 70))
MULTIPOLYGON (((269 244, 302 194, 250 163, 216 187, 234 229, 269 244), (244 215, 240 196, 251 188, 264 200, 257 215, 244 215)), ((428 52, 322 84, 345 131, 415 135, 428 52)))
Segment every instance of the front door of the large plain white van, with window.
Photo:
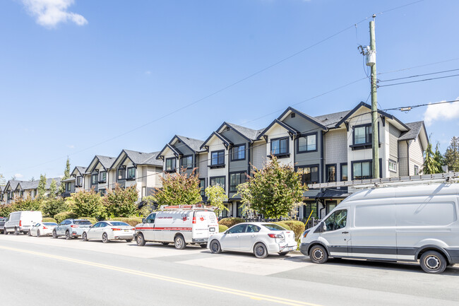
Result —
POLYGON ((321 237, 327 242, 328 251, 332 256, 347 256, 347 245, 350 242, 349 207, 334 211, 323 221, 326 229, 321 237))

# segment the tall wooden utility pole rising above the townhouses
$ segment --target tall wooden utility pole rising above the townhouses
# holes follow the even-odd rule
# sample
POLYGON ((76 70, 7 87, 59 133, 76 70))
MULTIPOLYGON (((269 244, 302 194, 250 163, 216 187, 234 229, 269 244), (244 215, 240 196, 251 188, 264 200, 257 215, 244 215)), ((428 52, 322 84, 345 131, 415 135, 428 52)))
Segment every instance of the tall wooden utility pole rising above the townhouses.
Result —
POLYGON ((379 177, 379 137, 378 137, 378 99, 376 95, 376 42, 374 38, 374 18, 370 21, 370 49, 366 65, 371 66, 371 129, 373 131, 373 178, 379 177))

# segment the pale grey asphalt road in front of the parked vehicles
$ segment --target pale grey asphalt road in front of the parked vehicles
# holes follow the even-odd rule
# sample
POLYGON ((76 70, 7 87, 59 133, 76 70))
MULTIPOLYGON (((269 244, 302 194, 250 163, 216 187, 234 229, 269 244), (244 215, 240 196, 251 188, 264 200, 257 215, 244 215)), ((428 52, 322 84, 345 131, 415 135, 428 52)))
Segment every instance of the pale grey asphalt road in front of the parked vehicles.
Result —
POLYGON ((0 235, 0 305, 459 305, 459 266, 0 235))

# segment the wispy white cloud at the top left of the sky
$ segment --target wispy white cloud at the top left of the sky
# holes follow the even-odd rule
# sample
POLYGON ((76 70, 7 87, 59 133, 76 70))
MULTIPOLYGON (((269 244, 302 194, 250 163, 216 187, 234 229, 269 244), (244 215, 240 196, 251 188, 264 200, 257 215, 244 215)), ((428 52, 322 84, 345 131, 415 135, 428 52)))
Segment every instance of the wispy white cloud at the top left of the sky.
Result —
POLYGON ((85 25, 88 20, 77 13, 67 11, 74 0, 22 0, 25 8, 37 23, 47 28, 54 28, 58 23, 71 21, 77 25, 85 25))

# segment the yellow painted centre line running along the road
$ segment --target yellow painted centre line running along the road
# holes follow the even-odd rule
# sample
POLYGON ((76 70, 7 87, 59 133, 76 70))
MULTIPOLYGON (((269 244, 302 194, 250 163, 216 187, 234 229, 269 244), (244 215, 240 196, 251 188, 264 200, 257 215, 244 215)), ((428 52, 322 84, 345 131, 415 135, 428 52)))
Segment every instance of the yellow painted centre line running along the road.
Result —
POLYGON ((62 256, 58 256, 58 255, 53 255, 53 254, 34 252, 34 251, 26 250, 26 249, 17 249, 17 248, 13 248, 13 247, 4 247, 4 246, 0 246, 0 249, 6 249, 6 250, 9 250, 9 251, 13 251, 13 252, 21 252, 21 253, 25 253, 25 254, 37 255, 37 256, 40 256, 40 257, 48 257, 48 258, 52 258, 52 259, 58 259, 58 260, 61 260, 61 261, 69 261, 69 262, 73 262, 73 263, 76 263, 76 264, 83 264, 85 266, 95 266, 95 267, 101 268, 101 269, 107 269, 107 270, 112 270, 112 271, 119 271, 119 272, 123 272, 123 273, 129 273, 129 274, 132 274, 132 275, 144 276, 144 277, 147 277, 147 278, 154 278, 154 279, 158 279, 158 280, 161 280, 161 281, 168 281, 170 283, 179 283, 181 285, 186 285, 186 286, 191 286, 191 287, 196 287, 196 288, 203 288, 203 289, 213 290, 213 291, 217 291, 217 292, 221 292, 221 293, 229 293, 229 294, 232 294, 232 295, 244 296, 244 297, 250 298, 252 300, 266 300, 268 302, 275 302, 275 303, 282 304, 282 305, 292 305, 292 306, 299 306, 299 305, 322 306, 322 305, 309 303, 309 302, 302 302, 302 301, 298 301, 298 300, 290 300, 290 299, 287 299, 287 298, 278 298, 278 297, 275 297, 273 295, 263 295, 263 294, 252 293, 252 292, 244 291, 244 290, 237 290, 237 289, 225 288, 225 287, 220 287, 220 286, 214 286, 214 285, 210 285, 210 284, 207 284, 207 283, 198 283, 196 281, 187 281, 187 280, 181 279, 181 278, 173 278, 173 277, 169 277, 169 276, 162 276, 160 274, 154 274, 154 273, 148 273, 148 272, 137 271, 137 270, 132 270, 132 269, 126 269, 126 268, 121 268, 121 267, 117 267, 117 266, 110 266, 110 265, 107 265, 107 264, 98 264, 98 263, 93 262, 93 261, 84 261, 84 260, 81 260, 81 259, 73 259, 73 258, 70 258, 70 257, 62 257, 62 256))

